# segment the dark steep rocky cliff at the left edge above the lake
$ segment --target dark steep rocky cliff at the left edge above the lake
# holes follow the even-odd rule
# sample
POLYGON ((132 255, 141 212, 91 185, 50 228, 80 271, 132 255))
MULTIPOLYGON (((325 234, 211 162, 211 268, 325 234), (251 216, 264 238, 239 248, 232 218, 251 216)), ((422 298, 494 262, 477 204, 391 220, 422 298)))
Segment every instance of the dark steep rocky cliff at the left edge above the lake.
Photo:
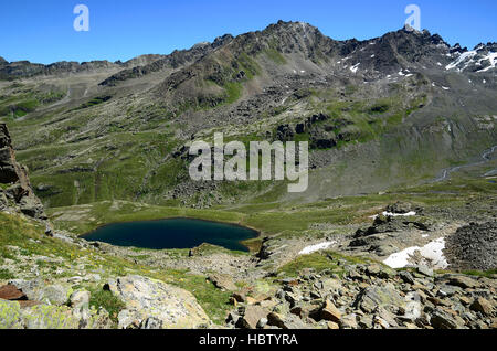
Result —
POLYGON ((31 217, 46 220, 43 204, 31 188, 28 169, 15 161, 4 124, 0 124, 0 211, 20 211, 31 217))

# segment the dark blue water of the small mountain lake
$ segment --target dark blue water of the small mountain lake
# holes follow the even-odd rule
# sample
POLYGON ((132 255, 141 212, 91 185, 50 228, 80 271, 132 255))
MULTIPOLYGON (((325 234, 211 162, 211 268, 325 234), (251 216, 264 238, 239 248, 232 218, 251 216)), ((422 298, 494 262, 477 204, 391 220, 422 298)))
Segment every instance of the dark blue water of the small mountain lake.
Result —
POLYGON ((254 238, 257 232, 237 225, 189 219, 115 223, 82 237, 115 246, 140 248, 193 248, 203 243, 232 251, 248 252, 242 241, 254 238))

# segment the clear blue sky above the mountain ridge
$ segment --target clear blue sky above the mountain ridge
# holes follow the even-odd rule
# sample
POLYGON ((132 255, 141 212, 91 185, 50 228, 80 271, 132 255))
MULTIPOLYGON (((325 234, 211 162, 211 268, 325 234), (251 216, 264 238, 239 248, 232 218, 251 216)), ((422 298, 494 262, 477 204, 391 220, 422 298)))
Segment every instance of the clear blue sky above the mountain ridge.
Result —
POLYGON ((262 30, 281 19, 309 22, 337 40, 363 40, 402 28, 411 3, 421 8, 421 26, 450 44, 497 41, 495 0, 15 0, 0 4, 0 56, 126 61, 262 30), (78 3, 89 8, 89 32, 73 29, 78 3))

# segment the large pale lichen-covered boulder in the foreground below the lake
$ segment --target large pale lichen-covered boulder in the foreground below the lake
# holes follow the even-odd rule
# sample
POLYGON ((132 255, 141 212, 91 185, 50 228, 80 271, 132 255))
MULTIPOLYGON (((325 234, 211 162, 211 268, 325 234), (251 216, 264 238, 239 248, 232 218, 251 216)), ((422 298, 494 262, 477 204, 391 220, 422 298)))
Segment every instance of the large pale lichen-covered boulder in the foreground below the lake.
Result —
POLYGON ((119 328, 139 328, 154 317, 165 329, 195 329, 210 325, 209 317, 192 294, 160 280, 126 276, 110 280, 108 288, 126 304, 119 312, 119 328))

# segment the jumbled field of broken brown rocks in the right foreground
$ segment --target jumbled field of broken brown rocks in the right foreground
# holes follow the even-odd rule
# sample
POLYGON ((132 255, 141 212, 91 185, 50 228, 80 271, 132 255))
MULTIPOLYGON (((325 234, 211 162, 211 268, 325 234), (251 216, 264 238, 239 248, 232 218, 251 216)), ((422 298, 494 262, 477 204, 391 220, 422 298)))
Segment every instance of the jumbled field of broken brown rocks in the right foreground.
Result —
POLYGON ((395 272, 322 254, 334 269, 275 278, 274 295, 232 295, 242 329, 495 329, 495 279, 430 269, 395 272))

